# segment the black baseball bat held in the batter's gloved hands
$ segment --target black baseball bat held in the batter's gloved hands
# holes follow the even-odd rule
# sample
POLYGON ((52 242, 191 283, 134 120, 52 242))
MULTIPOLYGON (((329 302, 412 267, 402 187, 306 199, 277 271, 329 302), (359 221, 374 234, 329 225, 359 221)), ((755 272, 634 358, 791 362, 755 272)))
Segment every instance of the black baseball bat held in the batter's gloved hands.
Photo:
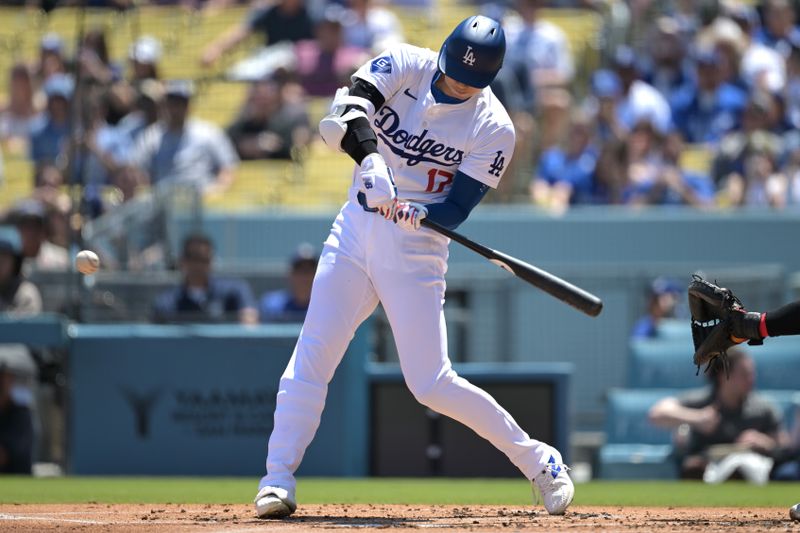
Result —
POLYGON ((449 230, 444 226, 423 218, 421 224, 426 228, 456 241, 457 243, 466 246, 473 252, 481 254, 483 257, 494 263, 495 265, 508 270, 518 278, 522 278, 531 285, 543 290, 550 296, 558 298, 564 303, 567 303, 589 316, 597 316, 603 310, 603 301, 594 294, 587 292, 580 287, 576 287, 572 283, 565 281, 558 276, 520 261, 516 257, 511 257, 503 252, 492 250, 482 244, 449 230))

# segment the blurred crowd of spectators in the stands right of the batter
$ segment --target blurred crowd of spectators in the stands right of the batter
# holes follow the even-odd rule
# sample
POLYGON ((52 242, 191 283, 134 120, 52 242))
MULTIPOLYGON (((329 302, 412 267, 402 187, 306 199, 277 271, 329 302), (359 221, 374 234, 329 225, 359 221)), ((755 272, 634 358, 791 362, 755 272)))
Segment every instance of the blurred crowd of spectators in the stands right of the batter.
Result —
POLYGON ((515 157, 538 155, 531 200, 555 210, 796 205, 797 3, 626 5, 641 22, 607 41, 584 94, 564 34, 538 18, 541 3, 522 0, 506 15, 504 68, 516 75, 501 94, 526 126, 515 157), (686 165, 687 147, 704 164, 686 165))

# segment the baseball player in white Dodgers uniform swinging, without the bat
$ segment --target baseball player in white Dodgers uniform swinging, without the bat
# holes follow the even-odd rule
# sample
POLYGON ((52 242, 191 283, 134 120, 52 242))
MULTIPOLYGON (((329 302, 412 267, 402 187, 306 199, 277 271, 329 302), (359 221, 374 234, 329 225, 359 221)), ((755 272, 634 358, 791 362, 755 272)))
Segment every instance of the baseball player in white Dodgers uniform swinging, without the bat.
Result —
POLYGON ((336 92, 320 122, 325 143, 356 166, 280 380, 267 475, 255 498, 259 517, 295 511, 294 473, 319 426, 328 382, 378 302, 414 397, 505 453, 550 514, 563 514, 572 502, 575 489, 558 450, 529 437, 494 398, 452 369, 442 311, 449 240, 420 224, 427 217, 457 227, 497 187, 511 159, 514 127, 489 89, 505 46, 497 21, 473 16, 438 55, 393 47, 336 92))

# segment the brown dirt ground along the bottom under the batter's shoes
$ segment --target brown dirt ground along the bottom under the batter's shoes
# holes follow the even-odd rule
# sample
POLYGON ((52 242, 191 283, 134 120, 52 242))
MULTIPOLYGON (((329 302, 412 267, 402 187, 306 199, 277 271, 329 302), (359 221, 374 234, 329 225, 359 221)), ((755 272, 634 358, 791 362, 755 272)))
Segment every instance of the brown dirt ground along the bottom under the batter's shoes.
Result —
POLYGON ((549 516, 530 507, 304 505, 286 520, 258 520, 250 505, 0 505, 0 531, 202 533, 386 529, 450 531, 692 531, 800 533, 788 509, 571 507, 549 516))

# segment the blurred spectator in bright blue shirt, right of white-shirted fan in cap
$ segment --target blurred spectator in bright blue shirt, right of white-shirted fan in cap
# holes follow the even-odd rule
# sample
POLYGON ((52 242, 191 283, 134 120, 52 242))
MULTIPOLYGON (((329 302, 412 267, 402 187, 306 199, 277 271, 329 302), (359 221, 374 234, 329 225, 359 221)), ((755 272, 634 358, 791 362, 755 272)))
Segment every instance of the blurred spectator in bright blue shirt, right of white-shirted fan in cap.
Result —
POLYGON ((685 85, 672 101, 675 126, 687 142, 717 143, 739 125, 747 93, 723 80, 716 49, 698 48, 692 57, 697 81, 685 85))

